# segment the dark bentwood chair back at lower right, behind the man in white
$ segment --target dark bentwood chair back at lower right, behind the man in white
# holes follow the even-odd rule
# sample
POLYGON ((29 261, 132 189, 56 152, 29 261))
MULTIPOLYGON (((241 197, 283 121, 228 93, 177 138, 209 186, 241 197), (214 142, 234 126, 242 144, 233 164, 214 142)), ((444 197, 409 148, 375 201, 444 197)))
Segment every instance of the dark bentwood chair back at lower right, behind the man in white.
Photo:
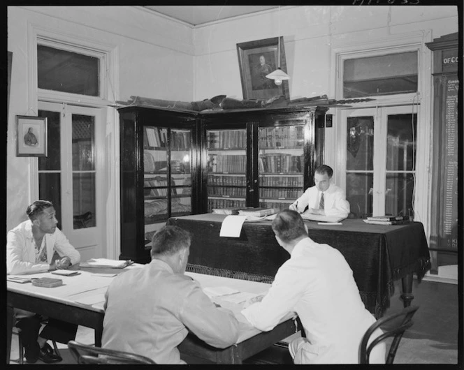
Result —
POLYGON ((379 318, 379 320, 370 325, 368 330, 365 332, 363 339, 361 340, 361 345, 359 347, 359 363, 368 364, 369 355, 372 349, 386 338, 393 336, 393 341, 391 342, 390 349, 385 360, 386 364, 393 364, 396 350, 398 350, 398 345, 400 344, 401 338, 403 337, 405 331, 409 327, 412 327, 412 316, 414 316, 414 313, 416 313, 417 309, 419 309, 419 306, 406 307, 398 313, 393 313, 391 315, 379 318), (386 325, 392 323, 393 325, 391 326, 386 325), (378 327, 380 327, 384 334, 379 335, 377 338, 373 339, 372 342, 368 345, 370 336, 373 332, 375 332, 375 330, 377 330, 378 327))

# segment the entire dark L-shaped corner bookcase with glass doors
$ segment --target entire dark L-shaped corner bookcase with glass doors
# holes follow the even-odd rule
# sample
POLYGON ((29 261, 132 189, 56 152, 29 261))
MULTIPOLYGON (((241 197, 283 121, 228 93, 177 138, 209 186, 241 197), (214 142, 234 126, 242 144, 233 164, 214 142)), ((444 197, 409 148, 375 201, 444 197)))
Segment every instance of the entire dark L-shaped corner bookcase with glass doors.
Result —
POLYGON ((323 163, 326 108, 118 111, 121 259, 150 262, 152 235, 173 216, 287 208, 323 163))

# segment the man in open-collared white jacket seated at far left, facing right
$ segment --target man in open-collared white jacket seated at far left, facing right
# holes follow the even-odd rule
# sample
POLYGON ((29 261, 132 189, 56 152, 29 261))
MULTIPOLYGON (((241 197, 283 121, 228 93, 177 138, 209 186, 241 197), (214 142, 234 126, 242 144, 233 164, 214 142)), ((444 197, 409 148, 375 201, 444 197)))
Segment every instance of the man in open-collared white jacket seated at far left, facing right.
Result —
MULTIPOLYGON (((48 200, 36 200, 26 210, 29 220, 10 230, 6 237, 7 274, 32 274, 54 269, 68 269, 80 262, 80 253, 74 249, 59 228, 55 207, 48 200), (59 260, 52 261, 58 253, 59 260)), ((15 326, 24 345, 26 362, 60 362, 62 359, 47 340, 67 344, 75 339, 78 325, 48 319, 41 334, 41 316, 15 309, 15 326)))

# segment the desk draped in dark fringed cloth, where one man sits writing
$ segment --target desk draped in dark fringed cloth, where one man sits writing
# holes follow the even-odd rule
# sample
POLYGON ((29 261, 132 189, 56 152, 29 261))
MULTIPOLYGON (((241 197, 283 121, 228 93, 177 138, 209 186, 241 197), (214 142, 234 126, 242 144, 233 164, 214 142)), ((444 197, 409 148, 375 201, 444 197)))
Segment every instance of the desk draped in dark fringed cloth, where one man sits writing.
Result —
MULTIPOLYGON (((240 237, 219 237, 220 214, 173 217, 168 225, 191 232, 189 266, 202 274, 238 279, 273 281, 289 254, 277 244, 271 221, 247 223, 240 237)), ((412 278, 422 279, 430 269, 430 254, 418 222, 406 225, 368 225, 361 219, 346 219, 342 225, 318 225, 305 221, 309 236, 318 243, 338 249, 351 269, 366 308, 377 318, 390 306, 394 281, 402 280, 404 305, 409 306, 412 278)))

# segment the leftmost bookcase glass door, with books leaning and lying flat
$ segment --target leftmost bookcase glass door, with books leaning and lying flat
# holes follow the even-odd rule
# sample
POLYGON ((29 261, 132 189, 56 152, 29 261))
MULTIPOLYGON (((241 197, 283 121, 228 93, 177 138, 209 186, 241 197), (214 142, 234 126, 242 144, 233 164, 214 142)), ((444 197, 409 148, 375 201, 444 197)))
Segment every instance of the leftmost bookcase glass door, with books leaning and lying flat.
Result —
POLYGON ((144 126, 145 246, 171 216, 191 214, 191 131, 144 126))

